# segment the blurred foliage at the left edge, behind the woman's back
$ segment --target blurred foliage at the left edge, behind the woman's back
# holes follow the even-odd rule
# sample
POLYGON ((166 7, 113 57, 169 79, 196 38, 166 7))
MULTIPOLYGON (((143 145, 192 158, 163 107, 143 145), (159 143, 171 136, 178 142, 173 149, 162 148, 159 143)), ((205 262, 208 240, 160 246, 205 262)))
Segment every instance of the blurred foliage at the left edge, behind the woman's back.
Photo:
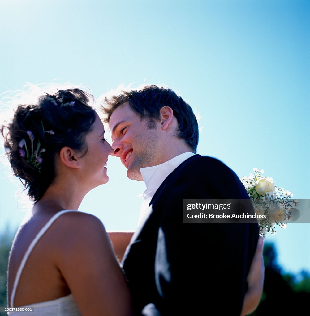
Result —
POLYGON ((0 233, 0 306, 7 306, 7 269, 14 234, 5 229, 0 233))

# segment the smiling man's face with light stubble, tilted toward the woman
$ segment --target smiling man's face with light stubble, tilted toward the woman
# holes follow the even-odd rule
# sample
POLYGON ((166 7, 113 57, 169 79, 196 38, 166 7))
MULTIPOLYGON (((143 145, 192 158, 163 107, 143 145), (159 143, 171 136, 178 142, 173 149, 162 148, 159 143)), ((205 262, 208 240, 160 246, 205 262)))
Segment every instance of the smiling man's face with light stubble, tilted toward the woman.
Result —
POLYGON ((132 180, 143 181, 140 168, 162 163, 162 141, 160 122, 149 129, 146 119, 134 112, 129 103, 118 106, 111 115, 109 127, 113 140, 114 156, 121 159, 127 168, 127 176, 132 180))

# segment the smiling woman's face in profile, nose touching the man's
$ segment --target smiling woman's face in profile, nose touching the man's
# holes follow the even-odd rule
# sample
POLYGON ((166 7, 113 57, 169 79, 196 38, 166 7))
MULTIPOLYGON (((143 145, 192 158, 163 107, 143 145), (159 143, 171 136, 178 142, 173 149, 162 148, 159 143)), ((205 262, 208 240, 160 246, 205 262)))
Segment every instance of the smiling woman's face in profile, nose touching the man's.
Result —
POLYGON ((104 139, 104 126, 97 115, 92 131, 85 137, 87 153, 81 158, 85 181, 92 188, 109 181, 107 175, 108 156, 114 153, 113 147, 104 139))

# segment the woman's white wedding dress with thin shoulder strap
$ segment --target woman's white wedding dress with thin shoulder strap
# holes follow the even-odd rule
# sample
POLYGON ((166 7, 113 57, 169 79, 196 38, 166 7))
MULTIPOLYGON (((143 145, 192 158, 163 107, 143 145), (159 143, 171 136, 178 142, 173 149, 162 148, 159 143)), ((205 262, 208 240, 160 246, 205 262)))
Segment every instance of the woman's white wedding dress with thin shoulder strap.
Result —
MULTIPOLYGON (((16 279, 14 282, 13 286, 13 291, 11 294, 11 307, 14 306, 14 297, 17 289, 17 285, 19 282, 19 279, 22 274, 22 270, 26 264, 26 261, 38 242, 38 240, 41 238, 41 236, 47 231, 47 229, 53 224, 53 222, 62 214, 67 213, 67 212, 73 212, 74 210, 64 210, 61 212, 56 213, 45 225, 44 227, 39 231, 39 233, 35 236, 35 239, 31 242, 29 245, 24 257, 22 258, 22 262, 20 267, 17 270, 16 274, 16 279)), ((76 212, 76 211, 75 211, 76 212)), ((73 298, 73 295, 67 295, 64 297, 60 297, 56 300, 53 301, 45 301, 45 302, 40 302, 40 303, 35 303, 35 304, 30 304, 30 305, 25 305, 21 306, 21 308, 27 308, 27 307, 33 307, 34 311, 33 312, 8 312, 8 315, 10 316, 26 316, 26 315, 31 315, 31 316, 80 316, 81 313, 79 312, 79 308, 76 305, 76 302, 73 298)))

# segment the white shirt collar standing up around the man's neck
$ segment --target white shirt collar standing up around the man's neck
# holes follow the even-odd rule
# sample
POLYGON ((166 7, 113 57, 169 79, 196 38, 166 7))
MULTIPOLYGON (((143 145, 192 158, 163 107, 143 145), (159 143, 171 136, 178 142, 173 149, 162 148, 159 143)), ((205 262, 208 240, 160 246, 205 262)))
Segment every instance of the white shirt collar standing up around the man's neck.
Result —
POLYGON ((195 155, 191 152, 186 152, 175 156, 174 158, 152 167, 140 168, 144 183, 146 185, 146 190, 143 192, 143 198, 149 199, 153 197, 157 189, 160 187, 162 182, 168 177, 176 167, 178 167, 183 161, 187 160, 189 157, 195 155))

